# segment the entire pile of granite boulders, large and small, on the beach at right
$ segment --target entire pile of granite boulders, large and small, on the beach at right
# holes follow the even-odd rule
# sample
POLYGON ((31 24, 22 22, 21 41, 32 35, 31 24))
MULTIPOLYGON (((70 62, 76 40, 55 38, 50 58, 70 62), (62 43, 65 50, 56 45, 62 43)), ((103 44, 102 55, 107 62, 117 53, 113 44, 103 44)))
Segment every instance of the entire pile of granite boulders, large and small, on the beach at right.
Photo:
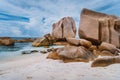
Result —
POLYGON ((38 38, 33 46, 65 45, 49 53, 48 59, 63 62, 89 62, 92 67, 120 63, 120 19, 113 15, 83 9, 76 39, 72 17, 64 17, 52 25, 50 34, 38 38), (101 56, 102 58, 99 58, 101 56))

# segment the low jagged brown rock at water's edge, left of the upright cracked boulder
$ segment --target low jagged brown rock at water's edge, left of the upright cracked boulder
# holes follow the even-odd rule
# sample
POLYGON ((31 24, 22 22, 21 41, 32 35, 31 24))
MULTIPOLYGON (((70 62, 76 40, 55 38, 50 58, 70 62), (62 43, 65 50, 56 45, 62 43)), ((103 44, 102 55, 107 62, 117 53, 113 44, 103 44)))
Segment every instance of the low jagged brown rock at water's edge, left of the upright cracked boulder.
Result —
POLYGON ((49 46, 52 45, 55 39, 50 34, 46 34, 44 37, 36 39, 32 46, 39 47, 39 46, 49 46))

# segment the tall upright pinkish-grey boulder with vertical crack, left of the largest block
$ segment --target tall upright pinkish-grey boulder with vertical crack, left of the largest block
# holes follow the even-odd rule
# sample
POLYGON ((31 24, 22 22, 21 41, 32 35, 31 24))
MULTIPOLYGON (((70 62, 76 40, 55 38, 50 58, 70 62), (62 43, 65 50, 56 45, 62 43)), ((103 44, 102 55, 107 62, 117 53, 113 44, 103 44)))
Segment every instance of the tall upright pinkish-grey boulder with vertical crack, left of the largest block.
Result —
POLYGON ((56 39, 74 38, 76 25, 72 17, 64 17, 53 24, 52 36, 56 39))

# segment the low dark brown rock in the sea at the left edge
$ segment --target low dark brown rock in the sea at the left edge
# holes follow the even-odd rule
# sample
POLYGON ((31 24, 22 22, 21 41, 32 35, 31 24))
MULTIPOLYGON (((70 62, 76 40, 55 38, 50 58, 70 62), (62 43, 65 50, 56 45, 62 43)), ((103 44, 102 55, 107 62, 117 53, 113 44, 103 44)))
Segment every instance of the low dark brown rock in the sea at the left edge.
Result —
POLYGON ((15 41, 11 39, 10 37, 1 37, 0 38, 0 45, 4 46, 11 46, 14 45, 15 41))

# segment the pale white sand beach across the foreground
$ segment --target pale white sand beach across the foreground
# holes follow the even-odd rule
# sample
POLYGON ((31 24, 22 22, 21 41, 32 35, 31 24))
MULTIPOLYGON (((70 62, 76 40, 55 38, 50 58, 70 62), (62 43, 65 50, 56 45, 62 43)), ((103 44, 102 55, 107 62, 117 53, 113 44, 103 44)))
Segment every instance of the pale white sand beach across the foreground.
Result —
POLYGON ((48 54, 29 54, 0 62, 0 80, 120 80, 120 65, 91 68, 91 63, 63 63, 48 54))

